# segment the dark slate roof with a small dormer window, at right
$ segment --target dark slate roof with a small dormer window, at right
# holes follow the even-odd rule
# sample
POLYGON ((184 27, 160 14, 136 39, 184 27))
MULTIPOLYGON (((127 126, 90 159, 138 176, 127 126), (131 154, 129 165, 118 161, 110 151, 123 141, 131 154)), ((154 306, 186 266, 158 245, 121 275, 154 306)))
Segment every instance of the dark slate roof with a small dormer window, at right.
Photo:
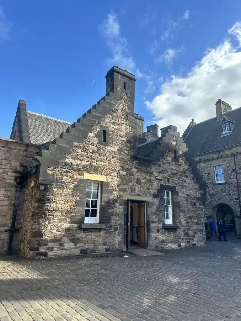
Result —
POLYGON ((241 144, 241 108, 229 111, 224 115, 235 121, 231 134, 221 135, 222 117, 219 120, 214 117, 191 127, 183 139, 183 143, 186 143, 193 156, 241 144))

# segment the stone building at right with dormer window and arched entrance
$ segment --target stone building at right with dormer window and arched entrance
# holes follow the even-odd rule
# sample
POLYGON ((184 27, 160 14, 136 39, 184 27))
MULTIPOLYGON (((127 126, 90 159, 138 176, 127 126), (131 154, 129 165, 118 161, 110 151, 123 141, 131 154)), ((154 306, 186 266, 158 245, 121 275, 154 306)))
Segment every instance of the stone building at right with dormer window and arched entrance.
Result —
POLYGON ((205 215, 240 234, 241 108, 232 111, 220 99, 215 105, 216 117, 199 124, 192 119, 183 141, 207 184, 205 215))

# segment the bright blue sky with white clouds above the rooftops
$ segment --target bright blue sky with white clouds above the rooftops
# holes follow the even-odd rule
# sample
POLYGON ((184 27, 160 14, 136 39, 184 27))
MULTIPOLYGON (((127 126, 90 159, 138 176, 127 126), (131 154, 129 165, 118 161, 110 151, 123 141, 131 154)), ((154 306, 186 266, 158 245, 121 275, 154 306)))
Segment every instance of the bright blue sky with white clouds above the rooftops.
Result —
POLYGON ((241 2, 0 0, 0 137, 17 103, 74 122, 105 94, 106 72, 136 75, 135 111, 183 132, 241 106, 241 2))

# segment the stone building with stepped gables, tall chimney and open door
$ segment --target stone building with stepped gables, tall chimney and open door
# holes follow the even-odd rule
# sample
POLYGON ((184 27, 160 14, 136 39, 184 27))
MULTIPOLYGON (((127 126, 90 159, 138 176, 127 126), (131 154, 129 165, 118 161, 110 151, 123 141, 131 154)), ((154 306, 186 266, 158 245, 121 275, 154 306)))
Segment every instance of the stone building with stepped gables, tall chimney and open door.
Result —
POLYGON ((72 124, 19 101, 0 144, 2 254, 9 234, 27 257, 205 245, 206 186, 177 127, 144 132, 135 76, 114 66, 105 78, 105 96, 72 124))

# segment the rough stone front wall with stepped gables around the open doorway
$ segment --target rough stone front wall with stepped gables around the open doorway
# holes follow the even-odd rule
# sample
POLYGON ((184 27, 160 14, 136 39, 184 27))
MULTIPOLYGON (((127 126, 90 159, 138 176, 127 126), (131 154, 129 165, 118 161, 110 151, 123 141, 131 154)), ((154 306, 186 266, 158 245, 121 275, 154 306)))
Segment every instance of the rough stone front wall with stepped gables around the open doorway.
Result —
POLYGON ((205 244, 203 191, 183 153, 187 149, 180 134, 176 127, 167 129, 152 158, 138 157, 133 109, 129 108, 128 95, 118 86, 120 94, 110 92, 103 97, 94 110, 91 108, 35 158, 44 190, 39 191, 37 184, 31 183, 34 178, 29 178, 24 222, 31 223, 22 237, 24 256, 125 251, 127 199, 137 197, 147 200, 149 248, 205 244), (102 130, 107 132, 106 143, 100 138, 102 130), (99 225, 93 228, 84 224, 86 173, 106 178, 101 182, 99 225), (31 188, 35 188, 33 192, 31 188), (171 229, 164 226, 164 189, 173 195, 171 229))

